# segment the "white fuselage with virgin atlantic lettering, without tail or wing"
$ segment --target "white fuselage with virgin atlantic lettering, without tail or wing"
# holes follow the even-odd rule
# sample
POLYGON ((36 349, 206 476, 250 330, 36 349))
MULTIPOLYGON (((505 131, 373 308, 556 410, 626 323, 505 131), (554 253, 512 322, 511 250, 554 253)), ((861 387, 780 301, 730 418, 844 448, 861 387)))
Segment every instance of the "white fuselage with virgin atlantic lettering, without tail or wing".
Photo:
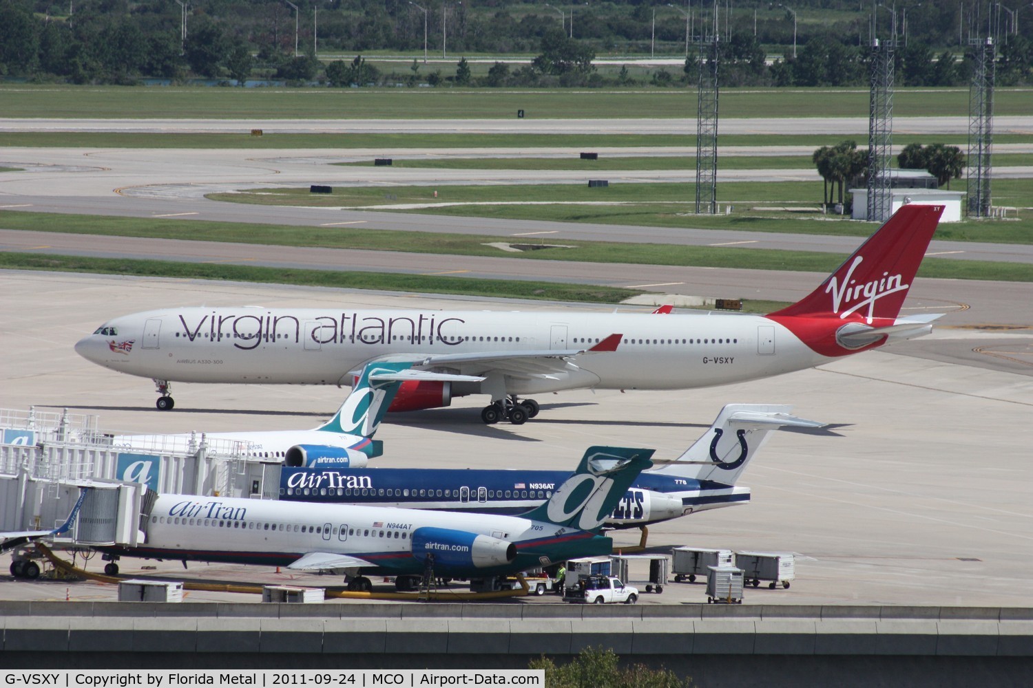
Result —
MULTIPOLYGON (((116 318, 75 349, 114 370, 168 382, 347 386, 349 371, 378 357, 504 358, 589 349, 614 333, 622 335, 616 352, 578 356, 559 374, 507 375, 507 391, 707 387, 831 360, 779 323, 739 314, 191 307, 116 318)), ((471 374, 476 366, 457 368, 471 374)))

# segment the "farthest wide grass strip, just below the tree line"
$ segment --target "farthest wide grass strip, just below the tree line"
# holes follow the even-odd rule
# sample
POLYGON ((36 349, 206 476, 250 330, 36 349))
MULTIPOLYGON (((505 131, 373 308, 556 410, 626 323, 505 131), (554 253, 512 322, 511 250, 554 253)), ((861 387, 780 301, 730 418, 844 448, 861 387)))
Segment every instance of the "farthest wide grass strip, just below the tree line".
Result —
MULTIPOLYGON (((722 118, 868 116, 869 92, 856 89, 722 89, 722 118)), ((691 89, 234 89, 178 87, 3 86, 7 118, 210 119, 611 119, 686 118, 691 89)), ((898 89, 896 117, 967 117, 968 89, 898 89)), ((1033 111, 1033 92, 997 89, 997 116, 1033 111)))

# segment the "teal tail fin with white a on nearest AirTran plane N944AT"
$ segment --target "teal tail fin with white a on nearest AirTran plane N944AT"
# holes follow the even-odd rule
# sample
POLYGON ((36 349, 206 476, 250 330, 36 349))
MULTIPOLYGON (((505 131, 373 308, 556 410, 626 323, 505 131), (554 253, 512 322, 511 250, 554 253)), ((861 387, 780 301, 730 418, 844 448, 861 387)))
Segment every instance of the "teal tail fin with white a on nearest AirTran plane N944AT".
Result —
POLYGON ((646 468, 652 449, 589 447, 577 470, 540 506, 524 518, 559 526, 598 531, 646 468))

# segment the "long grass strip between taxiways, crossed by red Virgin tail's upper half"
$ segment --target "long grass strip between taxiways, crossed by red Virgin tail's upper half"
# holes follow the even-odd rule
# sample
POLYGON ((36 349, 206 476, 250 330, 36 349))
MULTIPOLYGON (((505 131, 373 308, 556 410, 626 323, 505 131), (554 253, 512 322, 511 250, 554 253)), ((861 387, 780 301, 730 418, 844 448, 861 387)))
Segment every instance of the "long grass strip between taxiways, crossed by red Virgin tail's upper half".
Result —
MULTIPOLYGON (((781 231, 792 231, 805 225, 820 224, 823 231, 815 233, 831 233, 828 229, 829 223, 827 222, 802 223, 799 219, 787 219, 777 221, 776 224, 781 231), (779 225, 779 223, 783 224, 779 225)), ((743 267, 745 264, 751 268, 761 270, 800 270, 809 272, 831 272, 846 258, 845 255, 812 252, 656 243, 618 243, 608 241, 577 241, 574 249, 543 249, 529 253, 503 253, 496 248, 486 244, 511 241, 512 237, 364 230, 354 226, 346 229, 296 227, 293 225, 253 225, 247 223, 152 218, 58 215, 19 210, 0 210, 0 226, 7 229, 72 232, 79 234, 143 236, 291 247, 364 249, 371 251, 398 251, 400 245, 404 245, 406 247, 406 251, 409 252, 451 256, 491 256, 534 260, 632 263, 640 265, 694 265, 701 267, 743 267)), ((867 236, 874 231, 875 225, 843 222, 837 223, 836 228, 837 230, 842 229, 842 233, 867 236)), ((943 226, 941 225, 940 230, 937 231, 937 238, 944 238, 940 235, 942 228, 943 226)), ((17 264, 12 264, 9 261, 18 260, 17 256, 21 254, 8 252, 0 254, 0 258, 8 261, 7 266, 17 267, 17 264)), ((2 266, 4 264, 0 263, 0 267, 2 266)), ((210 267, 218 272, 220 266, 210 267)), ((46 268, 38 267, 38 269, 46 268)), ((364 272, 362 274, 369 275, 371 273, 364 272)), ((959 280, 1033 282, 1033 267, 1018 263, 993 263, 985 261, 931 258, 922 263, 919 274, 930 277, 951 277, 959 280)), ((460 280, 460 283, 464 282, 464 280, 460 280)), ((400 289, 398 287, 368 288, 400 289)), ((413 288, 411 291, 422 290, 422 288, 413 288)), ((541 298, 546 297, 542 296, 541 298)))

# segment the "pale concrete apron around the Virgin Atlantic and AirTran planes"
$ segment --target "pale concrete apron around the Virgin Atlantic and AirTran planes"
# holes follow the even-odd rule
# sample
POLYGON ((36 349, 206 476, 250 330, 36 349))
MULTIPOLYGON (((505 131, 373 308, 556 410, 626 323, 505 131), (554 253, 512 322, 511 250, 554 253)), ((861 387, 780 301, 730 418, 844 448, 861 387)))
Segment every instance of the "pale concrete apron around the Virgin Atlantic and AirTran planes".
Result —
MULTIPOLYGON (((72 351, 80 336, 115 314, 194 303, 584 307, 19 271, 0 272, 0 405, 67 407, 100 416, 104 429, 132 432, 312 427, 333 413, 344 392, 177 385, 176 409, 159 413, 150 381, 112 373, 72 351)), ((724 403, 790 403, 796 415, 834 424, 833 431, 777 433, 744 477, 753 489, 750 504, 655 526, 651 545, 796 552, 791 589, 751 590, 750 603, 1029 607, 1033 385, 1028 375, 936 359, 940 342, 969 336, 944 328, 907 342, 932 350, 932 356, 891 347, 744 385, 549 395, 539 399, 541 415, 519 427, 480 424, 482 399, 464 398, 453 407, 389 417, 377 435, 386 448, 377 461, 558 468, 571 465, 592 444, 651 447, 659 457, 672 458, 724 403)), ((1001 347, 1024 340, 1006 333, 995 338, 1001 347)), ((627 546, 637 533, 617 537, 627 546)), ((76 590, 108 594, 90 585, 76 590)), ((682 586, 672 596, 665 592, 648 601, 699 601, 700 590, 682 586)), ((46 598, 54 591, 44 584, 0 586, 0 595, 11 594, 46 598)))

